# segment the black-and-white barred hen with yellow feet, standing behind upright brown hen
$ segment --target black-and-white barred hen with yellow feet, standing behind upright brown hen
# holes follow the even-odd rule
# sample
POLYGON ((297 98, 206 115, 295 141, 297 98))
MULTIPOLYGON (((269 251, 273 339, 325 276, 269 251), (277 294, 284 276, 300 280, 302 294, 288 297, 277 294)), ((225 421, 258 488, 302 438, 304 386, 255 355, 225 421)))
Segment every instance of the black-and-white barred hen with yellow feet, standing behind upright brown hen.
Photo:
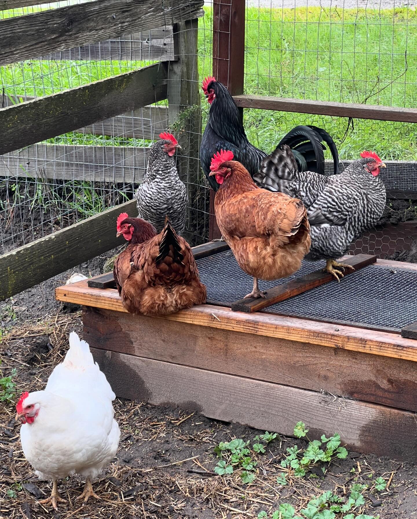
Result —
POLYGON ((311 248, 307 260, 327 260, 326 270, 337 280, 349 265, 338 263, 366 230, 380 219, 386 191, 379 178, 385 164, 373 152, 362 152, 338 175, 299 172, 289 146, 277 146, 262 162, 262 187, 299 198, 307 208, 311 248))

